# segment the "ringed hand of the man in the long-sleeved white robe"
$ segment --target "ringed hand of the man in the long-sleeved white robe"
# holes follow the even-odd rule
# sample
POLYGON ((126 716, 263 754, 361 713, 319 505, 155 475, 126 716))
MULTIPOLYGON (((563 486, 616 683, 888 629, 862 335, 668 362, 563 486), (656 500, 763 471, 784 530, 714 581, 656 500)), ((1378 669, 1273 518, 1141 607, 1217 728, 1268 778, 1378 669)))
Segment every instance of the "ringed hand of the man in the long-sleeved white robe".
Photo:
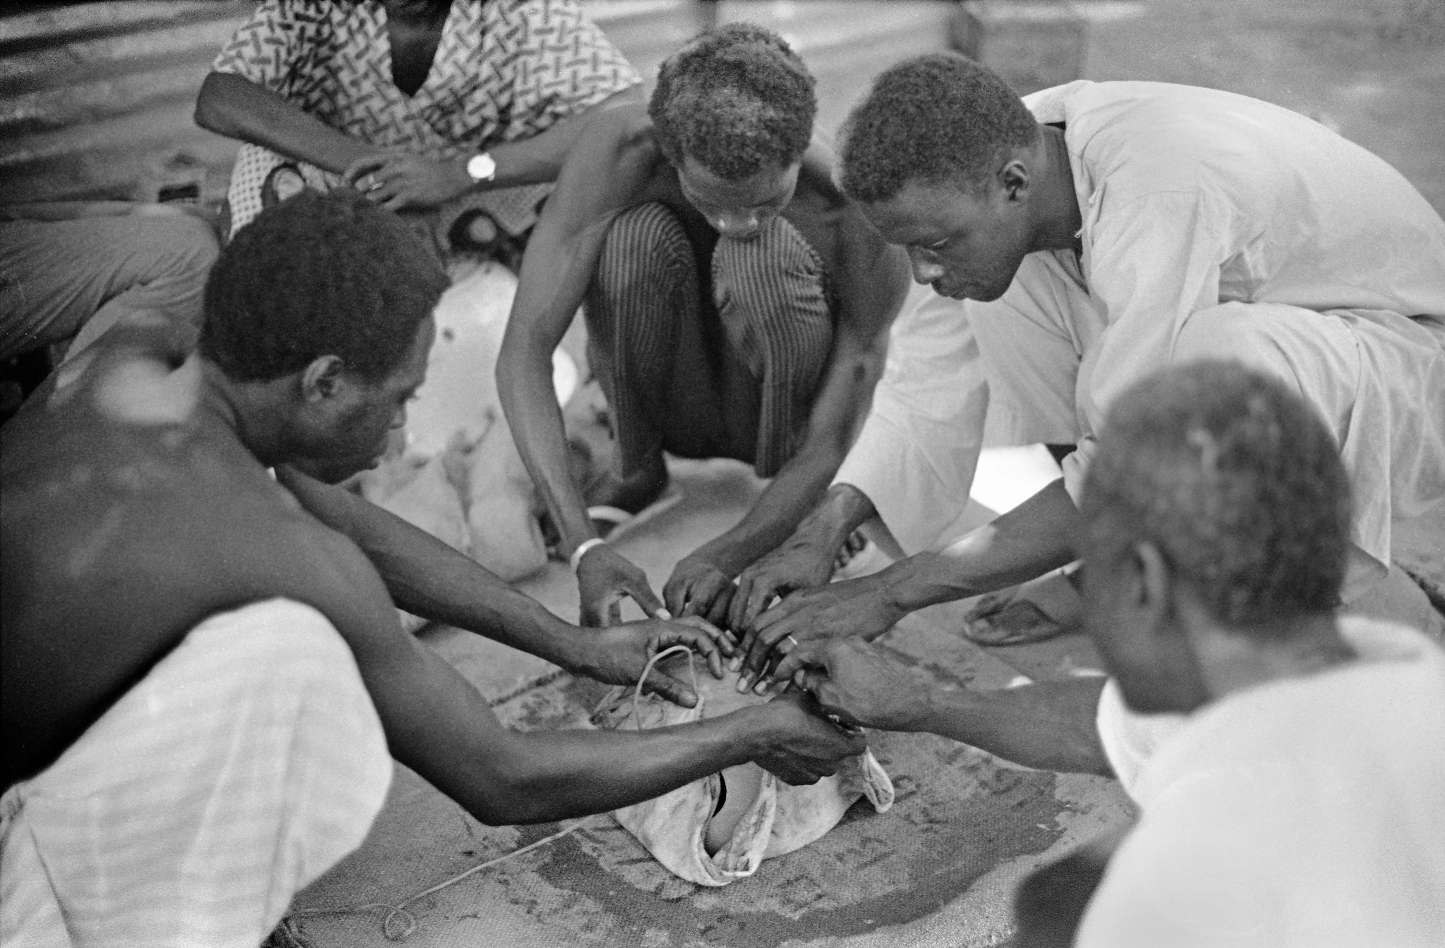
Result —
POLYGON ((877 574, 793 592, 759 616, 744 636, 741 681, 762 688, 767 668, 789 649, 814 639, 874 639, 906 614, 889 598, 877 574))

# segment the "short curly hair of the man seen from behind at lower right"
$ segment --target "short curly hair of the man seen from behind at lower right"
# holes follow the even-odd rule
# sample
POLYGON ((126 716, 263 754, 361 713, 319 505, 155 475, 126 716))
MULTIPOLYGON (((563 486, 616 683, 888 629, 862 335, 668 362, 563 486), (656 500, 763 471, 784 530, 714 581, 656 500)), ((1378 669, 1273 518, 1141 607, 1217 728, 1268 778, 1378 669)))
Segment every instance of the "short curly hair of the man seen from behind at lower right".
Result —
POLYGON ((1235 361, 1170 367, 1108 413, 1085 477, 1085 552, 1153 543, 1237 629, 1332 610, 1350 549, 1350 480, 1325 423, 1235 361))

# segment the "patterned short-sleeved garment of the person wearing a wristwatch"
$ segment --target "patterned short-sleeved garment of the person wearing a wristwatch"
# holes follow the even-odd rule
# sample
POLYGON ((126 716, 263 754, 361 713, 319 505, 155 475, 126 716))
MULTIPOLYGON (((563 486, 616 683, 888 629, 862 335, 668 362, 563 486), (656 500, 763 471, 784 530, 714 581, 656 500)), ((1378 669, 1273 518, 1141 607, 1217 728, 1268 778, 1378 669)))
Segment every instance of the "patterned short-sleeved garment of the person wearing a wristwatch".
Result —
MULTIPOLYGON (((575 0, 452 0, 415 95, 392 81, 386 9, 376 0, 266 0, 211 68, 250 79, 379 149, 435 159, 530 137, 642 81, 575 0)), ((260 212, 262 184, 286 163, 312 188, 341 182, 244 145, 227 195, 233 234, 260 212)), ((504 228, 522 233, 549 188, 475 197, 504 228)))

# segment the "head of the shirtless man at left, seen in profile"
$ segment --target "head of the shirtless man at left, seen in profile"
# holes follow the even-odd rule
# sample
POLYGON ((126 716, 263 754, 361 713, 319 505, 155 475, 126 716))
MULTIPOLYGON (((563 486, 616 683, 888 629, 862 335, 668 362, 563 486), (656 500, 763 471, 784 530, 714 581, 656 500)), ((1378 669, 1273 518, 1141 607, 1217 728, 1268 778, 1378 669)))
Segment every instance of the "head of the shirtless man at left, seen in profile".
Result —
POLYGON ((205 285, 201 356, 234 386, 279 399, 279 457, 341 480, 373 462, 420 386, 447 289, 435 254, 354 191, 263 211, 205 285))

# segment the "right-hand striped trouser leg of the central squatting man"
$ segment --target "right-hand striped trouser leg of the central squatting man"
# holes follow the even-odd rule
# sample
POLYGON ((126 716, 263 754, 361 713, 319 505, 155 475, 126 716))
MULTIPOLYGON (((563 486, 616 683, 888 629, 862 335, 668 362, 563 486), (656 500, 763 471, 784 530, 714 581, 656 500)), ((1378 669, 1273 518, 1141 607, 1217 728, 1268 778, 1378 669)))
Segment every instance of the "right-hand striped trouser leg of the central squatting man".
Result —
POLYGON ((775 217, 751 240, 720 240, 712 282, 724 350, 722 406, 730 439, 751 444, 772 477, 808 429, 832 350, 832 306, 822 257, 775 217))

